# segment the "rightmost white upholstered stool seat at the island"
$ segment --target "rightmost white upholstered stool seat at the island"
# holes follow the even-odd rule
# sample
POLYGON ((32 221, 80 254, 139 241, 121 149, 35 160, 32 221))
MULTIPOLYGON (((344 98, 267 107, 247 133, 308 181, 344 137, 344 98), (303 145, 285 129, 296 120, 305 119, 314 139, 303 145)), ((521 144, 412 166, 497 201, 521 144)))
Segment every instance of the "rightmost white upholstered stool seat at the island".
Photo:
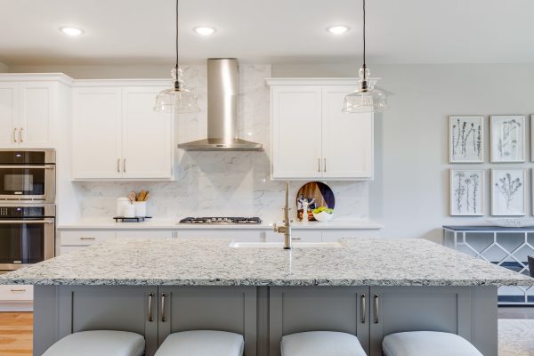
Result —
POLYGON ((462 336, 436 331, 410 331, 384 337, 385 356, 482 356, 462 336))

